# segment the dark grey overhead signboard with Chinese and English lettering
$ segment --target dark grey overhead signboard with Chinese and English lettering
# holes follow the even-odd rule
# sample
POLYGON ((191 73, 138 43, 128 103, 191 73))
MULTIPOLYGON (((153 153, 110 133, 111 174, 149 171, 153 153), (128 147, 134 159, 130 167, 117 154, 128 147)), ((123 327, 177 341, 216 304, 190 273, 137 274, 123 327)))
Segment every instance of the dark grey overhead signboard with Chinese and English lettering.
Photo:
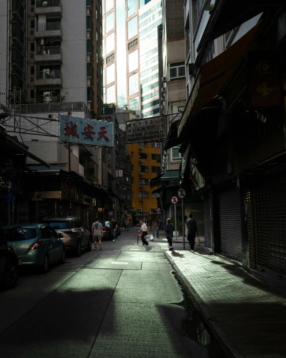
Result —
POLYGON ((166 139, 166 116, 128 121, 126 123, 127 143, 155 142, 166 139))

